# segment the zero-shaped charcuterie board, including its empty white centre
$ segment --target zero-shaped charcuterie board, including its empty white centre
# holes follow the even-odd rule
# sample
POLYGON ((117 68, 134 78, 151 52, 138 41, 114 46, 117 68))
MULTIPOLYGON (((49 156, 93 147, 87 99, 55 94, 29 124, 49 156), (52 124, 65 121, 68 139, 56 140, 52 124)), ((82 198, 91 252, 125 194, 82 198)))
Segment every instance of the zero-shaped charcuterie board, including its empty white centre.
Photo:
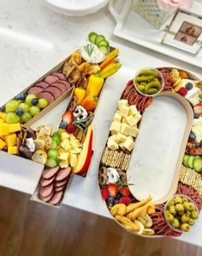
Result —
POLYGON ((202 82, 171 67, 137 74, 117 102, 100 192, 128 231, 180 236, 197 225, 202 207, 202 82))

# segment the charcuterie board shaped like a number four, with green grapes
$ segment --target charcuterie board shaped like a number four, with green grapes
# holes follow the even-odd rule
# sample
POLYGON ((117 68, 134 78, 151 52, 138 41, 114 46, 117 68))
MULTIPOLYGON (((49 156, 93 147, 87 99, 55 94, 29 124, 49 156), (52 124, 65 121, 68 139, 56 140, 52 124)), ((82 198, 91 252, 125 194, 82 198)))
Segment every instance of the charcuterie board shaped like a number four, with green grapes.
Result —
POLYGON ((78 50, 0 108, 3 165, 27 162, 27 168, 43 170, 31 199, 59 207, 71 174, 86 176, 92 119, 105 79, 121 67, 118 53, 104 35, 92 32, 78 50))

